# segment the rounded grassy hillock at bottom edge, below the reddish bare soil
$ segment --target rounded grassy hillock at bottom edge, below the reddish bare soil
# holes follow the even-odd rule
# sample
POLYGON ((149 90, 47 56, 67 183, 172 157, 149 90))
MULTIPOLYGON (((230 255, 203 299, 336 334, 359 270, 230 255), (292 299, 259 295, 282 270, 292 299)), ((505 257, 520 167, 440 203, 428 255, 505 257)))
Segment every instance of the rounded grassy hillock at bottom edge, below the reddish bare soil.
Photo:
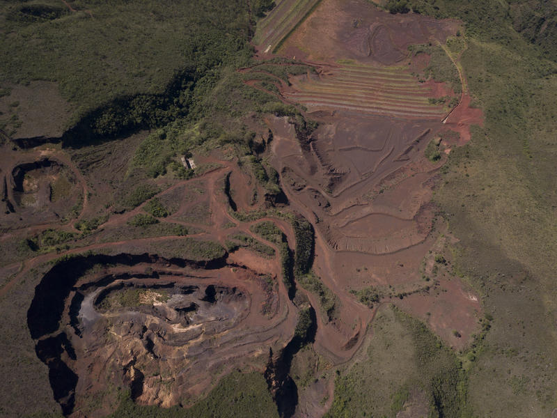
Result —
POLYGON ((385 307, 373 329, 366 359, 336 378, 326 417, 394 418, 411 387, 423 392, 430 417, 470 416, 460 362, 423 323, 385 307))

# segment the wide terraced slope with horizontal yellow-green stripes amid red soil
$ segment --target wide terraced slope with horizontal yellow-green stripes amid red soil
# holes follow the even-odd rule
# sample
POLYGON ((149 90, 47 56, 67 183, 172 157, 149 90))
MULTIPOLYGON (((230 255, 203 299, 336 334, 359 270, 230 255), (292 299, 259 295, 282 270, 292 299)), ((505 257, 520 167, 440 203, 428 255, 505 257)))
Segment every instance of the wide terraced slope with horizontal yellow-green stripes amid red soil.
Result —
POLYGON ((401 118, 442 118, 446 107, 430 104, 432 88, 400 67, 343 65, 322 77, 292 80, 294 93, 285 97, 304 104, 309 112, 345 110, 401 118))

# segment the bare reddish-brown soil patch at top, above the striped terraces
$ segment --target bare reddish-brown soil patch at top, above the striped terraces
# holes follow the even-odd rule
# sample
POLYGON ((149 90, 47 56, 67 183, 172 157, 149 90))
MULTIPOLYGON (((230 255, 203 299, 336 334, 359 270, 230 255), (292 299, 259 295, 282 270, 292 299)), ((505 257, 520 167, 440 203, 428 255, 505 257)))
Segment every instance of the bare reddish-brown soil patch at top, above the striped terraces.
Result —
POLYGON ((409 45, 430 38, 444 42, 457 26, 453 20, 439 21, 414 13, 391 15, 361 0, 322 1, 279 52, 308 61, 354 59, 394 65, 406 58, 409 45))

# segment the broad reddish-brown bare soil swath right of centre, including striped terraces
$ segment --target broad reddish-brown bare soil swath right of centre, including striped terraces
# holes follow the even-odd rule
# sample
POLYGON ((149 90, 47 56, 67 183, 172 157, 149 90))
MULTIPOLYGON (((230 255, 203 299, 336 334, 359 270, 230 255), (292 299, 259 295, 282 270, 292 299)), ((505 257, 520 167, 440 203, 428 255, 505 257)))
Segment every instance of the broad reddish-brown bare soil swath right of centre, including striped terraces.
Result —
POLYGON ((433 229, 439 221, 430 203, 445 157, 431 162, 424 151, 441 137, 447 138, 441 144, 446 153, 465 144, 469 126, 481 123, 481 111, 470 109, 463 94, 448 118, 450 109, 435 117, 400 113, 417 102, 413 95, 454 93, 432 80, 410 84, 405 79, 410 70, 386 72, 391 71, 388 65, 425 67, 427 56, 407 61, 408 45, 445 42, 457 26, 414 14, 389 15, 365 2, 325 1, 280 50, 317 69, 316 75, 292 78, 291 87, 277 84, 285 98, 299 100, 320 123, 311 137, 301 139, 288 118, 269 117, 267 123, 274 134, 272 164, 290 205, 315 226, 314 270, 340 299, 338 318, 320 321, 315 336, 315 350, 336 364, 352 358, 372 322, 374 311, 357 302, 351 290, 379 289, 381 302, 422 318, 456 349, 464 348, 476 330, 478 297, 464 290, 452 270, 445 268, 440 275, 432 266, 424 268, 432 250, 445 249, 433 229), (350 68, 345 62, 360 65, 362 70, 356 69, 368 78, 347 79, 338 70, 350 68), (357 87, 352 93, 348 80, 357 87), (371 102, 355 98, 366 88, 371 102), (401 92, 406 98, 395 98, 401 92), (378 94, 384 94, 384 104, 378 94), (447 135, 448 130, 457 134, 447 135))

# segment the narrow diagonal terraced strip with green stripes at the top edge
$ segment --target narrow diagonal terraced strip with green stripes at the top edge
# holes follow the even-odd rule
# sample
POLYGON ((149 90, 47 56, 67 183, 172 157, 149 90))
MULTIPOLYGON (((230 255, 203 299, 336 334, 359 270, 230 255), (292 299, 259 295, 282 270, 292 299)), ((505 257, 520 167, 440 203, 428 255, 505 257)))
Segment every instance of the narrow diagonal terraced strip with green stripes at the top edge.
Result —
POLYGON ((283 40, 315 9, 321 0, 283 0, 258 23, 253 42, 260 49, 274 52, 283 40))

